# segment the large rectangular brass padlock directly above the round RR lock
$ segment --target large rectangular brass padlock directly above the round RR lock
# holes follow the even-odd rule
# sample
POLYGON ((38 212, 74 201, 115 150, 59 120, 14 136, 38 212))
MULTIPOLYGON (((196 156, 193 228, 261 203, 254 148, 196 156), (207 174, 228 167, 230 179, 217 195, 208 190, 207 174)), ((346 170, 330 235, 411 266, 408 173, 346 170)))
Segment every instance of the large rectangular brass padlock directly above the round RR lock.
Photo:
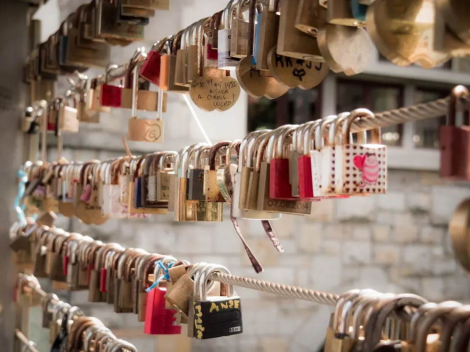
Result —
MULTIPOLYGON (((300 0, 280 0, 277 53, 291 58, 319 61, 323 58, 317 39, 294 27, 300 0)), ((269 49, 268 49, 269 50, 269 49)))

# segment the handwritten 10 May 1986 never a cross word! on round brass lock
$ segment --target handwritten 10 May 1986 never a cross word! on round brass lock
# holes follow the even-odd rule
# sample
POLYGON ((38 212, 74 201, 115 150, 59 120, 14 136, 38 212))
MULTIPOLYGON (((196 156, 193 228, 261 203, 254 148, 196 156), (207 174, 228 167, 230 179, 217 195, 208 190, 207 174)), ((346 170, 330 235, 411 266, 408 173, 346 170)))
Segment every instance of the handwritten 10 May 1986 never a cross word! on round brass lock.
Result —
POLYGON ((210 102, 214 109, 233 105, 238 99, 238 94, 234 91, 236 88, 238 83, 235 80, 224 82, 207 78, 191 83, 191 89, 197 92, 196 102, 210 102))

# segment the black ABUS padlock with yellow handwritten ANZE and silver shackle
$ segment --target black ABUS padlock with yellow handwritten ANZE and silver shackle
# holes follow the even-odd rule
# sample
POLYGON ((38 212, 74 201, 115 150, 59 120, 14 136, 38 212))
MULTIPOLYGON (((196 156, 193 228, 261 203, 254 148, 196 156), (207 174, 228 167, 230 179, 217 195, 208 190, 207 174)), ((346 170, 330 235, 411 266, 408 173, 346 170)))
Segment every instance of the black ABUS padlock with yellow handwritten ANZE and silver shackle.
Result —
MULTIPOLYGON (((209 264, 203 270, 199 280, 195 278, 199 289, 199 298, 194 299, 194 337, 210 339, 243 333, 241 299, 232 285, 227 286, 227 296, 208 297, 207 281, 212 273, 230 271, 222 265, 209 264)), ((195 294, 196 296, 196 294, 195 294)))

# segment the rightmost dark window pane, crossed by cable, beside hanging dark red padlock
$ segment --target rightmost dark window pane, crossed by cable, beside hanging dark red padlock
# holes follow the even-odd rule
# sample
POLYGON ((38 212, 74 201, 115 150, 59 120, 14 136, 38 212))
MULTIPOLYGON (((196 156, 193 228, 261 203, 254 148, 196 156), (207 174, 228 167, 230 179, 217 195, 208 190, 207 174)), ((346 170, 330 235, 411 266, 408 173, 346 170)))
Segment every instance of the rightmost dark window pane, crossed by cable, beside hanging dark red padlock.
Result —
MULTIPOLYGON (((446 90, 416 88, 413 104, 427 103, 449 95, 446 90)), ((446 116, 415 121, 413 142, 416 148, 439 148, 439 128, 446 123, 446 116)))

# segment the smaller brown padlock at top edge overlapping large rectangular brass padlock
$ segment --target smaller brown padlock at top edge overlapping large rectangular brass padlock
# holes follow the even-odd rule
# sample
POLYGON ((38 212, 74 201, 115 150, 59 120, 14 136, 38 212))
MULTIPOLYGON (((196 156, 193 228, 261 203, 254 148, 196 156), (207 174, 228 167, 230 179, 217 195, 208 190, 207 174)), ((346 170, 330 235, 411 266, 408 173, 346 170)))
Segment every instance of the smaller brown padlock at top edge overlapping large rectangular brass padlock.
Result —
POLYGON ((295 18, 295 27, 307 34, 316 36, 318 28, 327 22, 327 9, 318 1, 300 0, 295 18))

